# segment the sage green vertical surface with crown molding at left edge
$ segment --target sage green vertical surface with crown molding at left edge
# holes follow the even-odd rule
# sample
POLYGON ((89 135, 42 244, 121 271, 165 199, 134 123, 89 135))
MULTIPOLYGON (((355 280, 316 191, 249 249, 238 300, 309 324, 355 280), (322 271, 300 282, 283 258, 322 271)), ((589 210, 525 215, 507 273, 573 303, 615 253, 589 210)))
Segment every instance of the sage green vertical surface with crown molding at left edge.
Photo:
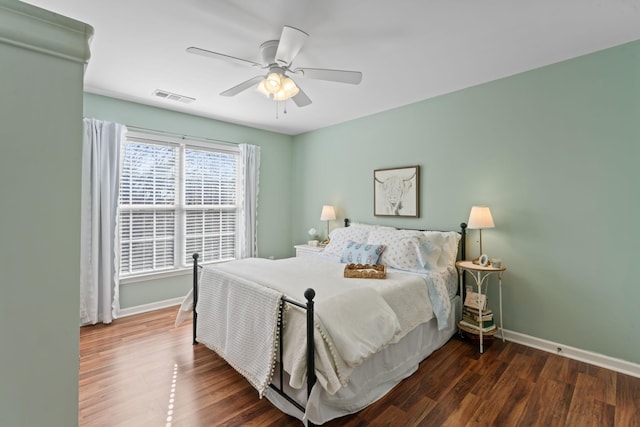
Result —
POLYGON ((78 423, 82 80, 91 27, 0 0, 0 425, 78 423))

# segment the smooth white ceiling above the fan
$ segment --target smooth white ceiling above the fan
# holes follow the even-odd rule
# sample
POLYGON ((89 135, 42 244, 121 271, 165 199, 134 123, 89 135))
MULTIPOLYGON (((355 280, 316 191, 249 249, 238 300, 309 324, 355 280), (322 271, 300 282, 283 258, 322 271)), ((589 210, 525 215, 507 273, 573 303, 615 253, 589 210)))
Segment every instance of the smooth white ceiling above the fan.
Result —
MULTIPOLYGON (((389 110, 640 39, 640 0, 30 0, 95 29, 85 90, 284 134, 389 110), (283 25, 309 33, 294 67, 362 71, 358 86, 296 78, 299 108, 249 89, 283 25), (196 98, 154 97, 162 89, 196 98), (282 104, 280 104, 282 108, 282 104)), ((295 78, 295 77, 294 77, 295 78)))

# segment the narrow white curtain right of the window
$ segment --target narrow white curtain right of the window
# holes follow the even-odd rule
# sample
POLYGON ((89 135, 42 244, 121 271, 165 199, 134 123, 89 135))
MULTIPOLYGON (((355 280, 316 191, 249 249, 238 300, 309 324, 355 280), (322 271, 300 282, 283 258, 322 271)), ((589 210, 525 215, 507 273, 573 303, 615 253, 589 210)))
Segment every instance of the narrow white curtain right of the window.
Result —
POLYGON ((260 147, 240 144, 241 157, 241 215, 238 224, 239 257, 258 256, 258 191, 260 177, 260 147))

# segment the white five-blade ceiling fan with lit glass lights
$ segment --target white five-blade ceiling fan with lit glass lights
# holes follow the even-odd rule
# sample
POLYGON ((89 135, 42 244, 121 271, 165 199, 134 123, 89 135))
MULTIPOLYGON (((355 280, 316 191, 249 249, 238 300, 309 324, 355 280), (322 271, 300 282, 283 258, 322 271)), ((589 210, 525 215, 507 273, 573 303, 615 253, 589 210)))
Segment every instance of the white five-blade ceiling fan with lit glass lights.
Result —
POLYGON ((266 75, 253 77, 225 90, 220 93, 222 96, 234 96, 255 86, 258 91, 275 101, 292 99, 298 107, 304 107, 311 104, 311 99, 287 74, 354 85, 362 81, 362 73, 360 71, 329 70, 324 68, 292 68, 293 60, 302 49, 302 46, 304 46, 307 37, 309 37, 309 34, 304 31, 285 25, 282 28, 280 40, 269 40, 260 45, 262 64, 198 47, 189 47, 187 48, 187 52, 209 58, 221 59, 233 64, 250 65, 268 70, 266 75))

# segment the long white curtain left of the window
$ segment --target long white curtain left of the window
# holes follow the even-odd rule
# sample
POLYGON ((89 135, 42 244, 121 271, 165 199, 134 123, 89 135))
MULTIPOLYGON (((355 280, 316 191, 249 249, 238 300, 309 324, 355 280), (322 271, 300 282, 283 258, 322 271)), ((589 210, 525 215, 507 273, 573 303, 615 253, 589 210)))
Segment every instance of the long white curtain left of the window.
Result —
POLYGON ((84 119, 80 322, 111 323, 118 316, 118 192, 120 146, 126 127, 84 119))

